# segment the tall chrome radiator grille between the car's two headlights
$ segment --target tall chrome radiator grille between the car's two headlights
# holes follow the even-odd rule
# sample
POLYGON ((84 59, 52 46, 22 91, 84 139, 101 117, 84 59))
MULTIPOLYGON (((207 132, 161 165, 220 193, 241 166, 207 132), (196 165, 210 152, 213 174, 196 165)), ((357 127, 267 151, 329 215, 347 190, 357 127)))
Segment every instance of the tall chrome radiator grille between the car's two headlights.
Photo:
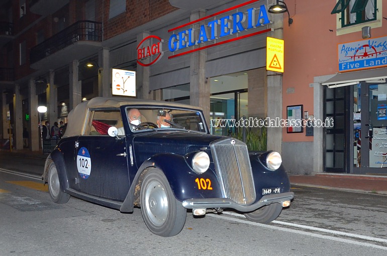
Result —
POLYGON ((222 193, 239 204, 255 201, 255 189, 247 146, 235 139, 211 143, 211 153, 222 193))

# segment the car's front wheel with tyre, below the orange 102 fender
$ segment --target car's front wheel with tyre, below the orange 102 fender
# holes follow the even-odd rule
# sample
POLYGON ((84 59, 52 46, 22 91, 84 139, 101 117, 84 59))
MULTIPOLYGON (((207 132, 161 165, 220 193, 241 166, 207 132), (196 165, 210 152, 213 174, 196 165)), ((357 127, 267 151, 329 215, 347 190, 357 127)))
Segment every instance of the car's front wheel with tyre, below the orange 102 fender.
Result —
POLYGON ((176 200, 165 175, 148 170, 141 185, 141 213, 149 230, 160 236, 178 234, 184 226, 186 209, 176 200))

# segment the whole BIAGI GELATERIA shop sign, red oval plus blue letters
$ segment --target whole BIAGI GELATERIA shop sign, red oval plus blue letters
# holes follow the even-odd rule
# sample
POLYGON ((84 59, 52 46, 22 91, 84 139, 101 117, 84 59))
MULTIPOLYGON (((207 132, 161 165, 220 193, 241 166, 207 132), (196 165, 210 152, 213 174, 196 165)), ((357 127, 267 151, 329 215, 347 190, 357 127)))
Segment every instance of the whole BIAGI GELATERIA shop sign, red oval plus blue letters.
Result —
MULTIPOLYGON (((272 31, 265 26, 270 20, 265 5, 256 3, 259 1, 251 0, 168 30, 173 33, 167 42, 172 53, 168 59, 272 31)), ((144 38, 137 46, 137 63, 146 67, 159 61, 163 44, 164 40, 154 35, 144 38)))

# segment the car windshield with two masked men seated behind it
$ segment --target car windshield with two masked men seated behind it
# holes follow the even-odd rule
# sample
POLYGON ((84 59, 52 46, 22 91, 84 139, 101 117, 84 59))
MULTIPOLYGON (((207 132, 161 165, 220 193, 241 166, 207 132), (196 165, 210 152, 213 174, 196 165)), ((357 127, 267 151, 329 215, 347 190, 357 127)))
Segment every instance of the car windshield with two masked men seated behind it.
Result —
POLYGON ((130 129, 144 130, 187 130, 207 133, 201 111, 175 108, 126 107, 130 129))

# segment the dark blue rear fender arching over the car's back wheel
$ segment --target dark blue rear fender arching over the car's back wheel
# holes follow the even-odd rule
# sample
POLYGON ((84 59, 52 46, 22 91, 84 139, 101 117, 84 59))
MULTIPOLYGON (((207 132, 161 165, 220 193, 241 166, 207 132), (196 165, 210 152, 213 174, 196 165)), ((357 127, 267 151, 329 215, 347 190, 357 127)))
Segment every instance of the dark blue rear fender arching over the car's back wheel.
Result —
POLYGON ((69 184, 68 184, 67 172, 64 164, 63 155, 58 149, 55 149, 54 151, 52 151, 46 159, 46 162, 44 164, 44 172, 42 175, 43 182, 44 184, 48 182, 47 181, 48 171, 49 171, 48 168, 50 166, 50 161, 54 162, 56 166, 56 170, 58 172, 60 190, 65 192, 65 190, 69 188, 69 184))

